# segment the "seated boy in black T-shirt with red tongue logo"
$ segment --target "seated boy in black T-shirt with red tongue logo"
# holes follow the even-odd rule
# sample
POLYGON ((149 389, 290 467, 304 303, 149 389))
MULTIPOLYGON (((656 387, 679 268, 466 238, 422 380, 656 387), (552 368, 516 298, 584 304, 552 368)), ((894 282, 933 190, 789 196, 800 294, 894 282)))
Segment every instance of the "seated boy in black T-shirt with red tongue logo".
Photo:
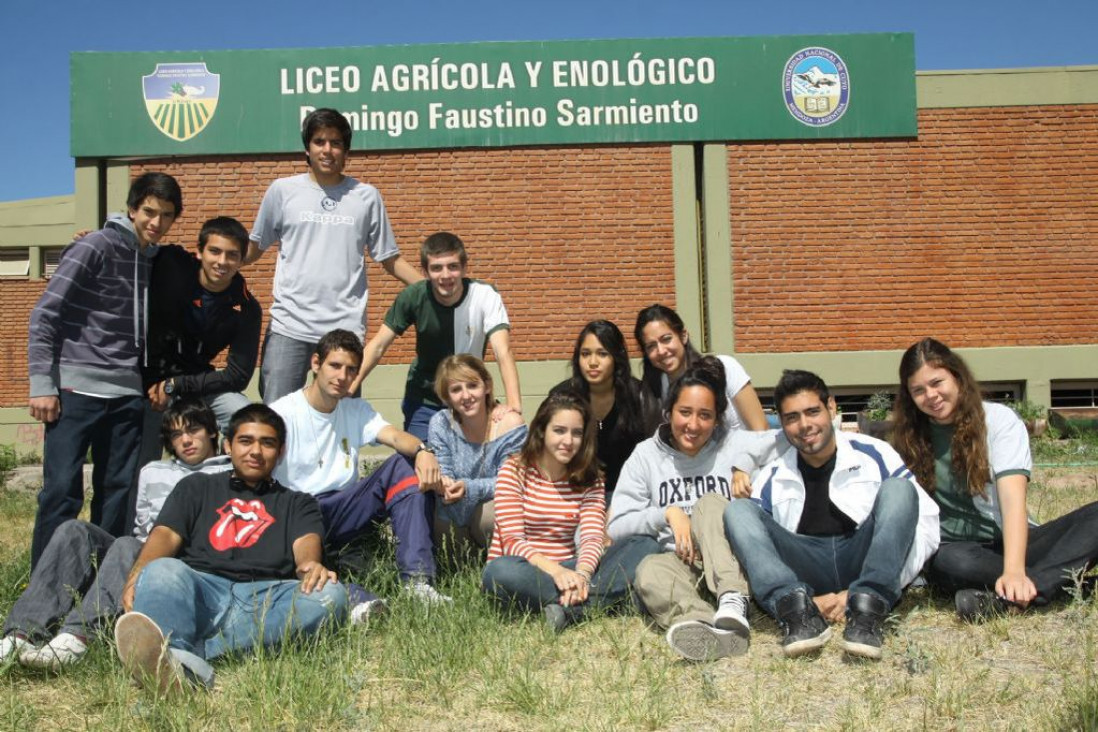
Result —
POLYGON ((209 688, 209 661, 343 621, 347 590, 322 563, 316 500, 271 478, 284 446, 281 417, 244 407, 225 440, 232 472, 192 475, 165 502, 114 626, 138 683, 209 688))

